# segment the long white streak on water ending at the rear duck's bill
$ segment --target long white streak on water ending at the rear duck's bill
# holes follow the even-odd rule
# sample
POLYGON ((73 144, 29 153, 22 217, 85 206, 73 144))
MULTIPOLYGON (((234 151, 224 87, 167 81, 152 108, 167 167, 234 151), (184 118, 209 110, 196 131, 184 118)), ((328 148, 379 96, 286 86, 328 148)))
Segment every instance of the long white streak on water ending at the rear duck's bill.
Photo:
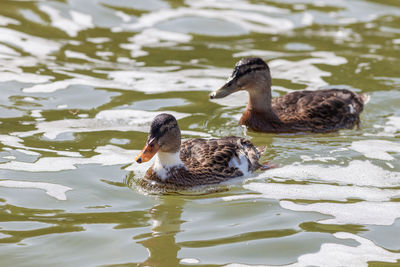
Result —
MULTIPOLYGON (((54 81, 50 83, 36 84, 23 89, 25 93, 52 93, 57 90, 66 89, 72 85, 88 85, 101 88, 115 88, 119 90, 136 90, 146 93, 187 91, 190 90, 215 90, 223 84, 231 70, 222 69, 187 69, 174 71, 178 67, 142 68, 137 70, 121 70, 105 72, 109 79, 94 78, 86 75, 62 72, 71 79, 54 81)), ((99 71, 101 73, 101 71, 99 71)), ((16 75, 19 78, 18 75, 16 75)), ((2 74, 0 73, 0 81, 2 74)), ((40 76, 39 76, 40 77, 40 76)), ((11 80, 4 75, 5 80, 11 80)), ((50 77, 53 78, 53 77, 50 77)), ((44 80, 47 82, 49 79, 44 80)))

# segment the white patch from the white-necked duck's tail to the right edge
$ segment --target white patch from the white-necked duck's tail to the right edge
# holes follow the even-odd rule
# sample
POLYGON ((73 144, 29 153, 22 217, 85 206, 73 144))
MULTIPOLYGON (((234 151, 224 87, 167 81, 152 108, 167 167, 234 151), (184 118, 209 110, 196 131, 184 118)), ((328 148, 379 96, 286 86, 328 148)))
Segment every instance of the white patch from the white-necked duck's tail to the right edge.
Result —
POLYGON ((284 178, 298 181, 317 180, 358 186, 391 187, 400 184, 400 172, 387 171, 370 161, 354 160, 348 166, 292 165, 262 173, 260 178, 284 178))

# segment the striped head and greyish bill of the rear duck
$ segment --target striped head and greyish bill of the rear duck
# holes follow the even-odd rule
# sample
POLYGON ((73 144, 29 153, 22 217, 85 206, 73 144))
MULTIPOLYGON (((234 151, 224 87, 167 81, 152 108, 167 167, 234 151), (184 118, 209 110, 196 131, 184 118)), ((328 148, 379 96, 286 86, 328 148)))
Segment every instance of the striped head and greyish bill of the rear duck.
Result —
POLYGON ((258 57, 247 57, 236 63, 228 81, 217 91, 210 94, 210 98, 223 98, 240 90, 249 93, 271 88, 271 73, 267 63, 258 57))

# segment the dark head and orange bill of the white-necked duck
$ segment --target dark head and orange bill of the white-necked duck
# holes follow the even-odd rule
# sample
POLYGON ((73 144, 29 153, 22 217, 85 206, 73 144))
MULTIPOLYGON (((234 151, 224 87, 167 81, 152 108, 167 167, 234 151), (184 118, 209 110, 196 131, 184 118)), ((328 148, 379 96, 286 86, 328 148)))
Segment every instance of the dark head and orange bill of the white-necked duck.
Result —
POLYGON ((171 114, 157 115, 150 126, 150 133, 143 150, 136 156, 136 162, 149 161, 157 152, 176 154, 181 146, 181 131, 171 114))

